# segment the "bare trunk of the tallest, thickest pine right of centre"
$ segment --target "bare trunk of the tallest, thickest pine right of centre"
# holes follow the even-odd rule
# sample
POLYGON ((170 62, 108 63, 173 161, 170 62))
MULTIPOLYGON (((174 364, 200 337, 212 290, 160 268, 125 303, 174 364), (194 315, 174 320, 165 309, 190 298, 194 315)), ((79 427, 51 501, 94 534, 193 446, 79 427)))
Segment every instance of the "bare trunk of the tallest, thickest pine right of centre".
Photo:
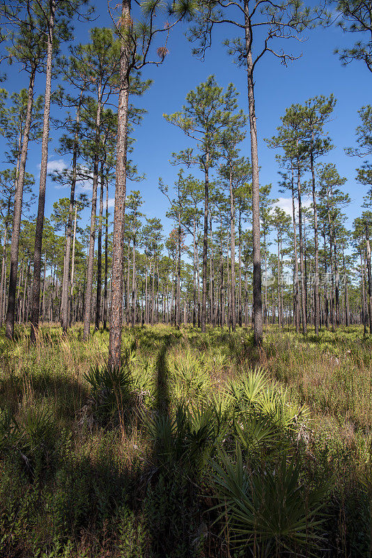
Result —
POLYGON ((260 182, 258 176, 258 146, 256 109, 254 104, 253 61, 249 22, 249 0, 244 1, 245 46, 247 52, 247 80, 249 105, 249 130, 251 133, 252 165, 252 247, 253 247, 253 320, 254 345, 261 345, 263 336, 262 292, 261 292, 261 243, 260 243, 260 182))

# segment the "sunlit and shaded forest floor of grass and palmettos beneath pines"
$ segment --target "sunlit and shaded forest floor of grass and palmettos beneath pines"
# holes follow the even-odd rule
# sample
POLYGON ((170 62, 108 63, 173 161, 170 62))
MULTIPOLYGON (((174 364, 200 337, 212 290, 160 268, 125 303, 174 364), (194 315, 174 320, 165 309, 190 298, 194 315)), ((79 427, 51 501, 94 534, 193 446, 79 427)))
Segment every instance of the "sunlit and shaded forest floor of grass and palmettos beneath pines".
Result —
POLYGON ((372 337, 0 333, 0 556, 371 557, 372 337))

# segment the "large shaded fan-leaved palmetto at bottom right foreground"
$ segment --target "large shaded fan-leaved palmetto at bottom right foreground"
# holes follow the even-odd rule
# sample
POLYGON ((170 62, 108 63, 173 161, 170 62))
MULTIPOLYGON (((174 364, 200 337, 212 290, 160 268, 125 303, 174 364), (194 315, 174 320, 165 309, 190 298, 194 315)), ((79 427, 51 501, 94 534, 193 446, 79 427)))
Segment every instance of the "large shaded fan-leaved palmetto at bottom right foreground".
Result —
POLYGON ((308 492, 300 481, 302 463, 284 454, 277 467, 254 471, 243 463, 240 446, 235 459, 221 452, 221 465, 212 463, 212 483, 235 548, 260 549, 266 556, 307 548, 308 555, 322 542, 322 509, 327 487, 308 492))

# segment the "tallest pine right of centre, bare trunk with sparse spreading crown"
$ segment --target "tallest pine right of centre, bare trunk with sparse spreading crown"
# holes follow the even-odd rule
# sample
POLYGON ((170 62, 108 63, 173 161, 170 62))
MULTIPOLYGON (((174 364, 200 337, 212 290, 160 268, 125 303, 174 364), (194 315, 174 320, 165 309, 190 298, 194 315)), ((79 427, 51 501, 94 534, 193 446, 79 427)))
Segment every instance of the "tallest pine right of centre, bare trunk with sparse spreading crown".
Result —
POLYGON ((211 45, 212 29, 217 24, 229 24, 239 29, 241 35, 231 42, 226 40, 228 52, 247 70, 247 92, 249 105, 249 130, 251 135, 252 165, 252 234, 253 234, 253 289, 254 289, 254 344, 260 345, 263 335, 262 293, 261 293, 261 243, 259 217, 259 165, 256 107, 254 98, 254 70, 265 53, 277 56, 285 65, 295 57, 284 50, 274 50, 272 42, 283 38, 300 38, 304 29, 313 27, 322 10, 311 11, 302 8, 297 1, 273 4, 263 0, 260 6, 241 0, 233 6, 226 6, 223 0, 203 0, 199 4, 196 25, 189 38, 199 43, 195 54, 204 56, 211 45), (256 33, 258 29, 261 33, 256 33), (255 53, 255 54, 254 54, 255 53))

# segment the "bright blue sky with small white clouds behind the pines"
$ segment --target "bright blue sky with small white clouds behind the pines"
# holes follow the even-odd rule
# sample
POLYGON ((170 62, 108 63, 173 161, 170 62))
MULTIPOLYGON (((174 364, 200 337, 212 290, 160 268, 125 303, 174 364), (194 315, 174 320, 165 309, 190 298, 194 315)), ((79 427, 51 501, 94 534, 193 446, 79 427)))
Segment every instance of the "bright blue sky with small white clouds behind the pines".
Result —
MULTIPOLYGON (((97 13, 99 17, 94 25, 108 27, 111 20, 105 2, 100 4, 97 13)), ((92 24, 77 24, 75 32, 77 42, 87 42, 89 27, 92 27, 92 24)), ((181 130, 165 121, 163 113, 180 110, 187 92, 205 81, 210 74, 215 75, 221 86, 225 87, 229 82, 233 82, 240 92, 240 107, 246 112, 248 108, 245 70, 233 63, 222 45, 224 38, 231 38, 231 28, 221 26, 217 29, 213 35, 212 49, 207 52, 203 62, 192 56, 191 45, 185 38, 185 29, 185 27, 178 27, 171 33, 167 45, 169 54, 164 63, 157 67, 148 66, 143 72, 143 77, 150 77, 154 82, 139 103, 146 108, 148 114, 134 132, 137 142, 132 158, 139 172, 146 174, 146 180, 127 185, 128 192, 131 189, 141 191, 145 200, 142 211, 148 217, 162 218, 166 232, 171 229, 171 223, 165 217, 167 200, 158 190, 158 179, 162 176, 165 183, 172 185, 178 168, 169 164, 171 153, 193 145, 181 130)), ((366 189, 355 182, 355 168, 360 164, 360 160, 346 156, 343 150, 355 144, 355 128, 359 123, 357 111, 362 105, 371 102, 368 93, 371 76, 360 62, 352 63, 347 67, 341 66, 338 56, 333 54, 333 51, 335 47, 343 47, 354 40, 354 36, 346 35, 336 27, 311 31, 304 43, 288 41, 288 44, 284 45, 287 50, 296 55, 302 52, 300 59, 290 62, 286 68, 268 53, 257 66, 255 75, 260 180, 262 184, 272 183, 272 195, 281 198, 280 204, 284 208, 289 206, 289 200, 286 199, 288 196, 278 193, 276 152, 268 149, 263 139, 275 134, 277 126, 280 125, 280 116, 292 103, 304 103, 307 98, 320 94, 327 96, 334 93, 336 96, 337 103, 332 121, 327 125, 327 132, 336 147, 327 158, 324 158, 324 161, 335 163, 341 176, 346 176, 348 179, 344 189, 352 199, 352 204, 347 209, 349 227, 361 211, 360 206, 366 189)), ((27 75, 17 70, 14 65, 6 68, 8 79, 3 86, 10 93, 27 86, 27 75)), ((43 76, 38 77, 38 93, 43 92, 43 80, 43 76)), ((58 80, 54 82, 54 86, 57 83, 58 80)), ((55 111, 55 108, 52 109, 52 114, 55 111)), ((51 130, 50 169, 70 163, 68 158, 61 158, 55 151, 60 133, 60 130, 51 130)), ((249 135, 242 144, 242 154, 249 155, 249 135)), ((31 145, 27 170, 36 178, 37 192, 39 168, 40 144, 31 145)), ((56 188, 55 184, 48 179, 46 216, 49 217, 52 204, 56 199, 68 195, 67 188, 56 188)), ((110 196, 114 198, 113 188, 110 196)), ((86 223, 81 225, 85 226, 86 223)))

